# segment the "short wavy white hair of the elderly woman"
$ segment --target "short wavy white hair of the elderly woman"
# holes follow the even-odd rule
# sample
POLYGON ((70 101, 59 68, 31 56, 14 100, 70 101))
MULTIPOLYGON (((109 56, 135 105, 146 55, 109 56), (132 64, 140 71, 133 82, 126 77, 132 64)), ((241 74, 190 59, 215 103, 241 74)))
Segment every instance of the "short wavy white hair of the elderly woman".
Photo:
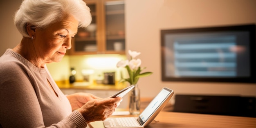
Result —
POLYGON ((78 27, 87 27, 92 21, 90 8, 83 0, 24 0, 14 16, 14 24, 22 36, 29 37, 27 23, 43 28, 72 15, 79 21, 78 27))

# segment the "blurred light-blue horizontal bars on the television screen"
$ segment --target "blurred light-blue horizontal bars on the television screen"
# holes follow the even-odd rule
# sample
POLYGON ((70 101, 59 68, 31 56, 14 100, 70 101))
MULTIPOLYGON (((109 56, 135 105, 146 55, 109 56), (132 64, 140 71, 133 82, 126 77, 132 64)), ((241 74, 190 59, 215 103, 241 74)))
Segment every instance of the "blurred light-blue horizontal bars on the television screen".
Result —
POLYGON ((236 76, 236 36, 175 38, 175 76, 236 76))

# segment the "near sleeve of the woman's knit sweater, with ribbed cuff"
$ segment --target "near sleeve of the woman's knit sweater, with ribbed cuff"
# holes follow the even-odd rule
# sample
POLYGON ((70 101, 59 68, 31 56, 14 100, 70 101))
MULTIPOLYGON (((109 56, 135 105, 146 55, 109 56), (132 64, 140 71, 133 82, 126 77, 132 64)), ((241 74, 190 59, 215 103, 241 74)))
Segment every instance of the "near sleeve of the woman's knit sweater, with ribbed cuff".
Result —
MULTIPOLYGON (((28 73, 29 69, 26 68, 20 64, 1 63, 0 128, 46 127, 37 93, 29 79, 31 77, 28 73)), ((54 119, 54 117, 49 118, 54 119)), ((83 116, 78 111, 74 111, 47 128, 85 128, 86 126, 83 116)))

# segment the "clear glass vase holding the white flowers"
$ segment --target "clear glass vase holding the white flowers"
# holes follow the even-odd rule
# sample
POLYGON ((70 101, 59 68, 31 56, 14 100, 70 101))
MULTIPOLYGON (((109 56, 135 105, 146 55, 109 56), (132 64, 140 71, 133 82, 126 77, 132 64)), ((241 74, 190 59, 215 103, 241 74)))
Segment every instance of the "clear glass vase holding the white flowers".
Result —
POLYGON ((139 115, 140 113, 140 90, 138 84, 130 91, 129 112, 131 115, 139 115))

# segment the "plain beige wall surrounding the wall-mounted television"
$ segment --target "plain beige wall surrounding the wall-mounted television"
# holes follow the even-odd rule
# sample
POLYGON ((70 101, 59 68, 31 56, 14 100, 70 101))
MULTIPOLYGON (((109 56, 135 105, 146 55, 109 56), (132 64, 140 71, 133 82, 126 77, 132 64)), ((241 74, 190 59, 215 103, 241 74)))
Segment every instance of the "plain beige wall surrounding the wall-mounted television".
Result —
POLYGON ((239 94, 256 96, 256 84, 161 81, 160 30, 256 23, 256 0, 126 0, 126 48, 141 52, 145 71, 142 97, 164 86, 175 94, 239 94))

